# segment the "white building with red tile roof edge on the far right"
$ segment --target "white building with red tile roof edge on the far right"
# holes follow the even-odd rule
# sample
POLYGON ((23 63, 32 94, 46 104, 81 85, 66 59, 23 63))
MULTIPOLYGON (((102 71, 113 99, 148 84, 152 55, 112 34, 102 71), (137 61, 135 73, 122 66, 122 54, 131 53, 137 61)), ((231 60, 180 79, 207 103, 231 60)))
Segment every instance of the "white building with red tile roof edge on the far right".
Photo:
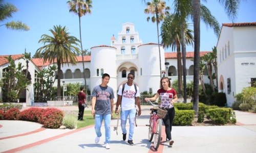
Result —
POLYGON ((256 82, 256 22, 223 23, 216 47, 218 90, 231 107, 234 96, 256 82))

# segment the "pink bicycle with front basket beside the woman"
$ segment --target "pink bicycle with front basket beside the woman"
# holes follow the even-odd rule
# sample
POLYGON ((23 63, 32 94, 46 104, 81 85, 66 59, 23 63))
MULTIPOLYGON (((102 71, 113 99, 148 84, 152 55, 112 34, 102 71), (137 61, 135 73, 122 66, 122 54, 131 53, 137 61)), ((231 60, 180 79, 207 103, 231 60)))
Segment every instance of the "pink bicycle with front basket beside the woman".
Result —
POLYGON ((151 101, 149 102, 153 105, 153 108, 150 109, 150 124, 146 124, 148 126, 148 140, 151 142, 154 137, 154 148, 157 149, 162 140, 162 118, 166 115, 167 111, 158 105, 154 105, 151 101))

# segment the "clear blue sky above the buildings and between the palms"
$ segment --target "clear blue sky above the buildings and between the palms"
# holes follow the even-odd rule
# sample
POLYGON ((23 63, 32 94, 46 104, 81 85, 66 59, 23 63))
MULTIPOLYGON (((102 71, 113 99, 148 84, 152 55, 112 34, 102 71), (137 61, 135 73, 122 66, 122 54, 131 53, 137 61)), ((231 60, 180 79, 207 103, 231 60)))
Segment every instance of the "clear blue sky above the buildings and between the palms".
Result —
MULTIPOLYGON (((20 20, 26 23, 30 30, 14 31, 0 26, 0 55, 24 54, 26 48, 26 52, 33 56, 39 47, 44 46, 38 43, 41 36, 44 34, 52 36, 49 30, 53 29, 54 25, 66 26, 71 36, 80 38, 79 19, 77 15, 69 12, 68 0, 4 0, 3 2, 15 5, 19 11, 14 13, 12 18, 0 21, 0 25, 20 20)), ((114 35, 117 39, 118 33, 122 30, 122 24, 126 22, 135 24, 135 31, 139 33, 143 44, 158 42, 156 22, 147 22, 146 18, 152 15, 144 13, 146 5, 141 0, 92 0, 92 2, 92 13, 81 17, 83 49, 90 51, 94 46, 110 45, 112 36, 114 35)), ((167 6, 173 8, 172 0, 165 2, 167 6)), ((232 22, 217 0, 202 4, 217 18, 220 25, 232 22)), ((241 0, 238 18, 234 22, 256 22, 255 8, 255 0, 241 0)), ((189 29, 193 30, 193 22, 188 21, 188 23, 190 23, 189 29)), ((218 37, 214 31, 207 28, 201 21, 200 50, 212 51, 217 41, 218 37)), ((194 48, 186 46, 186 51, 193 52, 194 48)), ((165 48, 165 52, 173 52, 173 50, 165 48)))

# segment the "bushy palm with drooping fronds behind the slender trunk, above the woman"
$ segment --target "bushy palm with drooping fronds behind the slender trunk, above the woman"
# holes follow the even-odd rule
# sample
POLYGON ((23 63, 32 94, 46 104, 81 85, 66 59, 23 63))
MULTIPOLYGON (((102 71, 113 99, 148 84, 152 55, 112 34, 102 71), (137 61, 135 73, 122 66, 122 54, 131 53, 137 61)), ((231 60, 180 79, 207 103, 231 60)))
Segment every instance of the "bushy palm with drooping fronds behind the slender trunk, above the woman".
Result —
MULTIPOLYGON (((182 68, 181 68, 181 30, 180 26, 177 24, 174 15, 168 15, 163 21, 161 27, 161 36, 164 47, 171 47, 175 50, 177 46, 177 66, 178 66, 178 94, 182 94, 182 68)), ((185 26, 185 42, 186 44, 193 45, 194 37, 193 31, 188 29, 188 24, 185 26)), ((183 58, 183 56, 182 56, 183 58)), ((184 73, 183 73, 184 74, 184 73)))

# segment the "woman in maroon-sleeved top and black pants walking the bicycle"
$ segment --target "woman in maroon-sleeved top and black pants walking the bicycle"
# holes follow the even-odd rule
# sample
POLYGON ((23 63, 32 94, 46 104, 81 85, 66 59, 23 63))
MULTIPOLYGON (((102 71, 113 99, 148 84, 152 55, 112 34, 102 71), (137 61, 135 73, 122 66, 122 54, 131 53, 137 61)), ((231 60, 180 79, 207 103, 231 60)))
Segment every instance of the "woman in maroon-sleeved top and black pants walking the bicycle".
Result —
POLYGON ((160 80, 160 89, 157 91, 156 95, 151 98, 145 98, 145 101, 155 101, 160 95, 161 104, 160 107, 164 107, 167 111, 163 122, 165 125, 165 134, 166 142, 169 142, 169 145, 173 145, 174 141, 172 140, 172 125, 175 117, 174 103, 178 100, 176 91, 170 87, 170 80, 167 77, 163 77, 160 80))

